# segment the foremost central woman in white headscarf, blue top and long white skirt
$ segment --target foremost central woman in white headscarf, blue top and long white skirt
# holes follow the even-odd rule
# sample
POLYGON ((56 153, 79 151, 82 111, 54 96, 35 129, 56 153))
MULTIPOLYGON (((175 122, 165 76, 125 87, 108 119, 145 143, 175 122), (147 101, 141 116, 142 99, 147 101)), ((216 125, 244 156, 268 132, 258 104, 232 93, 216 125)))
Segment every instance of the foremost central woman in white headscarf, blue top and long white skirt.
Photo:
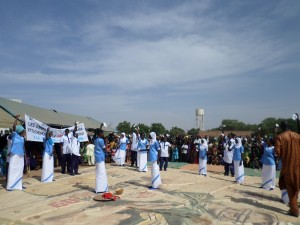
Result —
POLYGON ((158 189, 159 185, 161 184, 161 178, 159 174, 159 166, 157 165, 157 159, 158 159, 158 151, 159 143, 156 140, 156 133, 151 132, 150 133, 150 144, 149 144, 149 162, 151 162, 151 184, 152 186, 150 189, 158 189))

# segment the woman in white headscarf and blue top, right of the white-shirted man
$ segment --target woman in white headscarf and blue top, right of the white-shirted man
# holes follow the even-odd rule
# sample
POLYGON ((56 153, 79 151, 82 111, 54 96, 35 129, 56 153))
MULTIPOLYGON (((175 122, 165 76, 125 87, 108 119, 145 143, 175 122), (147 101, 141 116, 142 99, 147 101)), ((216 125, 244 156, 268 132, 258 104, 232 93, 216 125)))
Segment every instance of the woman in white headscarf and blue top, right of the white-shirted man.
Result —
POLYGON ((233 164, 235 182, 243 184, 245 180, 244 164, 243 164, 244 147, 242 140, 239 137, 235 138, 235 145, 233 147, 233 164))

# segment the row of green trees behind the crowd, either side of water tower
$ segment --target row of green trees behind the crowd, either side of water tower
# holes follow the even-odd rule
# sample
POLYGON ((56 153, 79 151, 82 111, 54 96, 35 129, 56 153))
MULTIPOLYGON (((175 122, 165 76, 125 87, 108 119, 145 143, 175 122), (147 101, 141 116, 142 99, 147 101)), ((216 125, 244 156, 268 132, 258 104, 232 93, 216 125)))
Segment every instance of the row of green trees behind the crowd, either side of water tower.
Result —
MULTIPOLYGON (((292 119, 282 119, 282 118, 273 118, 269 117, 264 119, 260 124, 245 124, 238 120, 224 119, 219 127, 211 130, 220 130, 222 131, 252 131, 253 135, 256 135, 258 129, 261 129, 262 135, 274 136, 275 125, 280 124, 282 121, 286 120, 292 131, 297 132, 297 123, 292 119)), ((120 122, 116 129, 120 132, 125 132, 126 134, 131 133, 131 128, 133 124, 128 121, 120 122)), ((179 127, 172 127, 170 130, 167 130, 161 123, 152 123, 150 126, 139 123, 136 124, 139 127, 141 133, 148 134, 151 131, 156 132, 156 134, 170 134, 171 136, 176 135, 197 135, 200 130, 192 128, 185 132, 184 129, 179 127)))

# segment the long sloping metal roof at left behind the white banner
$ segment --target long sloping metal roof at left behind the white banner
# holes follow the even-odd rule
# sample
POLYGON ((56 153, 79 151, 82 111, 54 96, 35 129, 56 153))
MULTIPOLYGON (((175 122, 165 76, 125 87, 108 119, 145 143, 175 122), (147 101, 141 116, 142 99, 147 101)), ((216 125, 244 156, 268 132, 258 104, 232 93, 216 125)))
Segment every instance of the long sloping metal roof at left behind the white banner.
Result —
MULTIPOLYGON (((21 120, 24 121, 25 114, 37 119, 49 126, 68 127, 73 126, 75 121, 84 123, 86 129, 99 128, 101 122, 85 116, 57 112, 56 110, 43 109, 40 107, 11 101, 0 97, 0 127, 12 127, 14 116, 21 115, 21 120), (9 125, 9 126, 8 126, 9 125)), ((111 127, 103 127, 104 131, 113 132, 111 127)))

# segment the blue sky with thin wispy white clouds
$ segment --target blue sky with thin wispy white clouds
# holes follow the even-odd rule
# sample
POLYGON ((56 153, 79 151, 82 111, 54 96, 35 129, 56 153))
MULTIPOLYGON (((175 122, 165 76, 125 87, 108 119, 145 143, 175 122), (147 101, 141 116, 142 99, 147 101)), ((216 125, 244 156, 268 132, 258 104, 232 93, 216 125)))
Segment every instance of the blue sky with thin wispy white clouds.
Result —
POLYGON ((300 112, 298 0, 2 0, 0 96, 204 128, 300 112))

